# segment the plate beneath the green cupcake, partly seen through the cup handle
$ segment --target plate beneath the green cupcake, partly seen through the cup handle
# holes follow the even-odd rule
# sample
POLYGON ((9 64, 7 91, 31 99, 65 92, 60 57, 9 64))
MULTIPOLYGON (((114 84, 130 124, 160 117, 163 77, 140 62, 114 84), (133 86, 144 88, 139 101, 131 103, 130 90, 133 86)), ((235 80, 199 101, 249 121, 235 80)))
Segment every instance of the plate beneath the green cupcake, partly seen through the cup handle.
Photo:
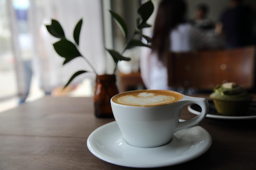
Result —
MULTIPOLYGON (((209 101, 209 113, 206 115, 206 117, 209 118, 214 118, 214 119, 235 119, 235 120, 243 120, 243 119, 256 119, 256 106, 254 104, 252 104, 249 109, 248 109, 248 113, 245 116, 222 116, 222 115, 217 115, 217 111, 216 108, 214 107, 214 104, 212 103, 212 101, 209 101)), ((195 114, 195 115, 199 115, 200 112, 197 109, 197 107, 195 108, 195 104, 189 104, 188 106, 188 110, 189 112, 195 114)))

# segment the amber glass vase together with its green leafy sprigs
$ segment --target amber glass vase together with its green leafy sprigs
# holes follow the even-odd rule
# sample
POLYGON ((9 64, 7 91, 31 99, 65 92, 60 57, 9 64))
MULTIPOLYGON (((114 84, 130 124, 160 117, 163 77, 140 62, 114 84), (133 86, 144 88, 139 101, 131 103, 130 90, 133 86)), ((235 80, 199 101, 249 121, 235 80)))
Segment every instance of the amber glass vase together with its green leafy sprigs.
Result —
MULTIPOLYGON (((115 13, 114 11, 110 10, 110 14, 112 15, 112 18, 115 20, 115 22, 118 24, 119 28, 121 29, 124 38, 126 39, 126 42, 124 44, 124 49, 119 52, 114 49, 106 49, 108 53, 112 56, 114 62, 115 62, 115 68, 113 68, 113 75, 98 75, 95 71, 94 67, 90 63, 90 61, 83 56, 83 54, 79 51, 79 39, 80 39, 80 31, 81 26, 83 23, 83 19, 79 20, 77 22, 76 26, 74 27, 73 31, 73 38, 74 42, 71 40, 68 40, 68 38, 65 36, 65 33, 63 31, 63 28, 61 24, 57 21, 52 19, 51 25, 46 25, 46 28, 48 32, 53 35, 56 38, 59 38, 57 42, 53 44, 54 49, 58 55, 63 57, 65 60, 63 62, 63 65, 67 64, 68 62, 74 60, 76 57, 83 57, 85 62, 88 63, 88 65, 92 68, 92 71, 96 75, 96 85, 94 88, 94 113, 97 117, 112 117, 112 110, 110 106, 110 98, 113 95, 116 95, 118 93, 117 86, 115 84, 115 72, 117 70, 117 64, 121 60, 129 61, 129 57, 125 57, 123 53, 127 49, 131 49, 135 46, 146 46, 150 48, 150 41, 151 38, 147 37, 146 35, 143 35, 142 29, 150 27, 147 23, 148 18, 151 16, 151 14, 154 11, 154 6, 151 0, 141 4, 139 8, 137 9, 137 22, 136 27, 132 33, 132 35, 128 38, 128 28, 126 25, 125 20, 115 13), (139 38, 136 38, 139 35, 139 38), (147 44, 144 44, 142 42, 142 39, 145 39, 147 44)), ((65 84, 64 88, 67 87, 72 80, 83 73, 87 73, 86 70, 77 71, 74 73, 68 82, 65 84)))

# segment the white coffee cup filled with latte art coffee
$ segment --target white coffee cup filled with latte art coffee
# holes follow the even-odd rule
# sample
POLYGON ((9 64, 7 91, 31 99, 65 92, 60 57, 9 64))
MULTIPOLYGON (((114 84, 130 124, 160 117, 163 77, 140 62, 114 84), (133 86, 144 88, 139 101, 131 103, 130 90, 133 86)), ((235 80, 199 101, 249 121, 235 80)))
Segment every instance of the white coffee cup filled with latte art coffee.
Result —
POLYGON ((110 103, 126 142, 141 148, 168 144, 173 133, 198 124, 209 110, 204 98, 162 90, 119 93, 111 98, 110 103), (180 122, 182 108, 191 103, 202 108, 200 115, 180 122))

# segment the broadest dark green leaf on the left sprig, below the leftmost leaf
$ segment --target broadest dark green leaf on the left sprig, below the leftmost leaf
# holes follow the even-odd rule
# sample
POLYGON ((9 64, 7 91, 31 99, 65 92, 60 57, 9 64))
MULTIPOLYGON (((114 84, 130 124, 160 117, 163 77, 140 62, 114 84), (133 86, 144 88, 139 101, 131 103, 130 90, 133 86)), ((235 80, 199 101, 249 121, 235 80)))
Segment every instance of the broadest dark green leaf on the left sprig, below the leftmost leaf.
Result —
POLYGON ((81 53, 78 51, 76 46, 69 40, 61 39, 60 41, 55 42, 53 46, 56 53, 66 59, 63 64, 81 56, 81 53))

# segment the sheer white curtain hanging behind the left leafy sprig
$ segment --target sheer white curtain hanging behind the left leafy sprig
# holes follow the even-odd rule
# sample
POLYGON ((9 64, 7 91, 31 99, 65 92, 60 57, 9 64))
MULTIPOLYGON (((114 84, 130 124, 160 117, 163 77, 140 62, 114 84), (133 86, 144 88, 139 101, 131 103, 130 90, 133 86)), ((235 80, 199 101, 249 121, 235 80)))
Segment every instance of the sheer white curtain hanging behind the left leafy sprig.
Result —
MULTIPOLYGON (((62 65, 64 59, 54 51, 52 44, 58 41, 50 35, 45 27, 51 24, 51 19, 58 20, 65 31, 66 37, 73 40, 73 29, 83 18, 80 35, 81 53, 88 58, 98 74, 106 71, 105 50, 103 42, 103 23, 101 0, 28 0, 27 25, 30 36, 29 48, 31 57, 24 57, 22 43, 19 43, 19 20, 15 11, 15 1, 7 0, 10 25, 12 31, 13 51, 16 59, 19 95, 26 95, 27 80, 24 60, 31 60, 32 73, 37 78, 40 88, 51 92, 56 86, 63 86, 73 73, 79 70, 92 71, 82 57, 62 65), (26 58, 26 59, 24 59, 26 58)), ((85 77, 94 78, 93 73, 85 73, 76 77, 73 84, 81 82, 85 77)))

